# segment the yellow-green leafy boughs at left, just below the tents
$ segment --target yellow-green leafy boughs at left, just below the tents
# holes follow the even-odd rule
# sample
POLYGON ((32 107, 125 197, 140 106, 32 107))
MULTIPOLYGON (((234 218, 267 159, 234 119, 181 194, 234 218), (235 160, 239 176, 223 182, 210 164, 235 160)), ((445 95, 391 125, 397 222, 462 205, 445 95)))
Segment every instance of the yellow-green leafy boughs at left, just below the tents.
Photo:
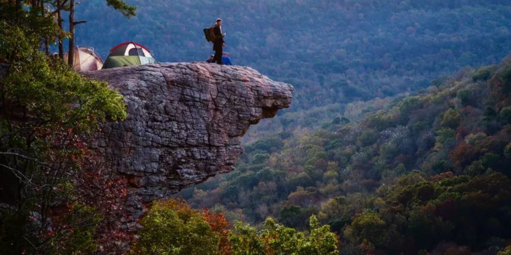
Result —
POLYGON ((39 52, 36 37, 5 21, 0 26, 4 31, 0 54, 13 56, 3 81, 5 100, 41 116, 46 123, 38 128, 55 129, 64 124, 64 128, 89 132, 107 116, 113 120, 126 118, 123 97, 117 91, 108 89, 106 83, 82 79, 58 60, 50 63, 39 52))

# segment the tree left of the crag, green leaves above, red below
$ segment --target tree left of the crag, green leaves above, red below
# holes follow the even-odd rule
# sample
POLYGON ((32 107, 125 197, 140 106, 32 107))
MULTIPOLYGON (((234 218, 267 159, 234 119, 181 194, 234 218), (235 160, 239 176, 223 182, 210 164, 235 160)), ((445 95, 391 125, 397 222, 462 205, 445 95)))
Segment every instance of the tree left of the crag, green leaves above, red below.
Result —
MULTIPOLYGON (((22 18, 30 15, 18 17, 27 24, 22 18)), ((32 29, 0 21, 0 56, 8 63, 0 80, 0 176, 9 180, 2 189, 13 191, 2 197, 13 206, 3 210, 0 239, 16 244, 0 246, 17 253, 94 252, 100 222, 112 210, 106 205, 124 193, 121 183, 112 192, 108 176, 88 177, 102 167, 84 167, 91 155, 83 141, 106 119, 126 117, 123 97, 49 59, 38 49, 45 32, 32 29), (101 201, 98 194, 105 195, 101 201)))

